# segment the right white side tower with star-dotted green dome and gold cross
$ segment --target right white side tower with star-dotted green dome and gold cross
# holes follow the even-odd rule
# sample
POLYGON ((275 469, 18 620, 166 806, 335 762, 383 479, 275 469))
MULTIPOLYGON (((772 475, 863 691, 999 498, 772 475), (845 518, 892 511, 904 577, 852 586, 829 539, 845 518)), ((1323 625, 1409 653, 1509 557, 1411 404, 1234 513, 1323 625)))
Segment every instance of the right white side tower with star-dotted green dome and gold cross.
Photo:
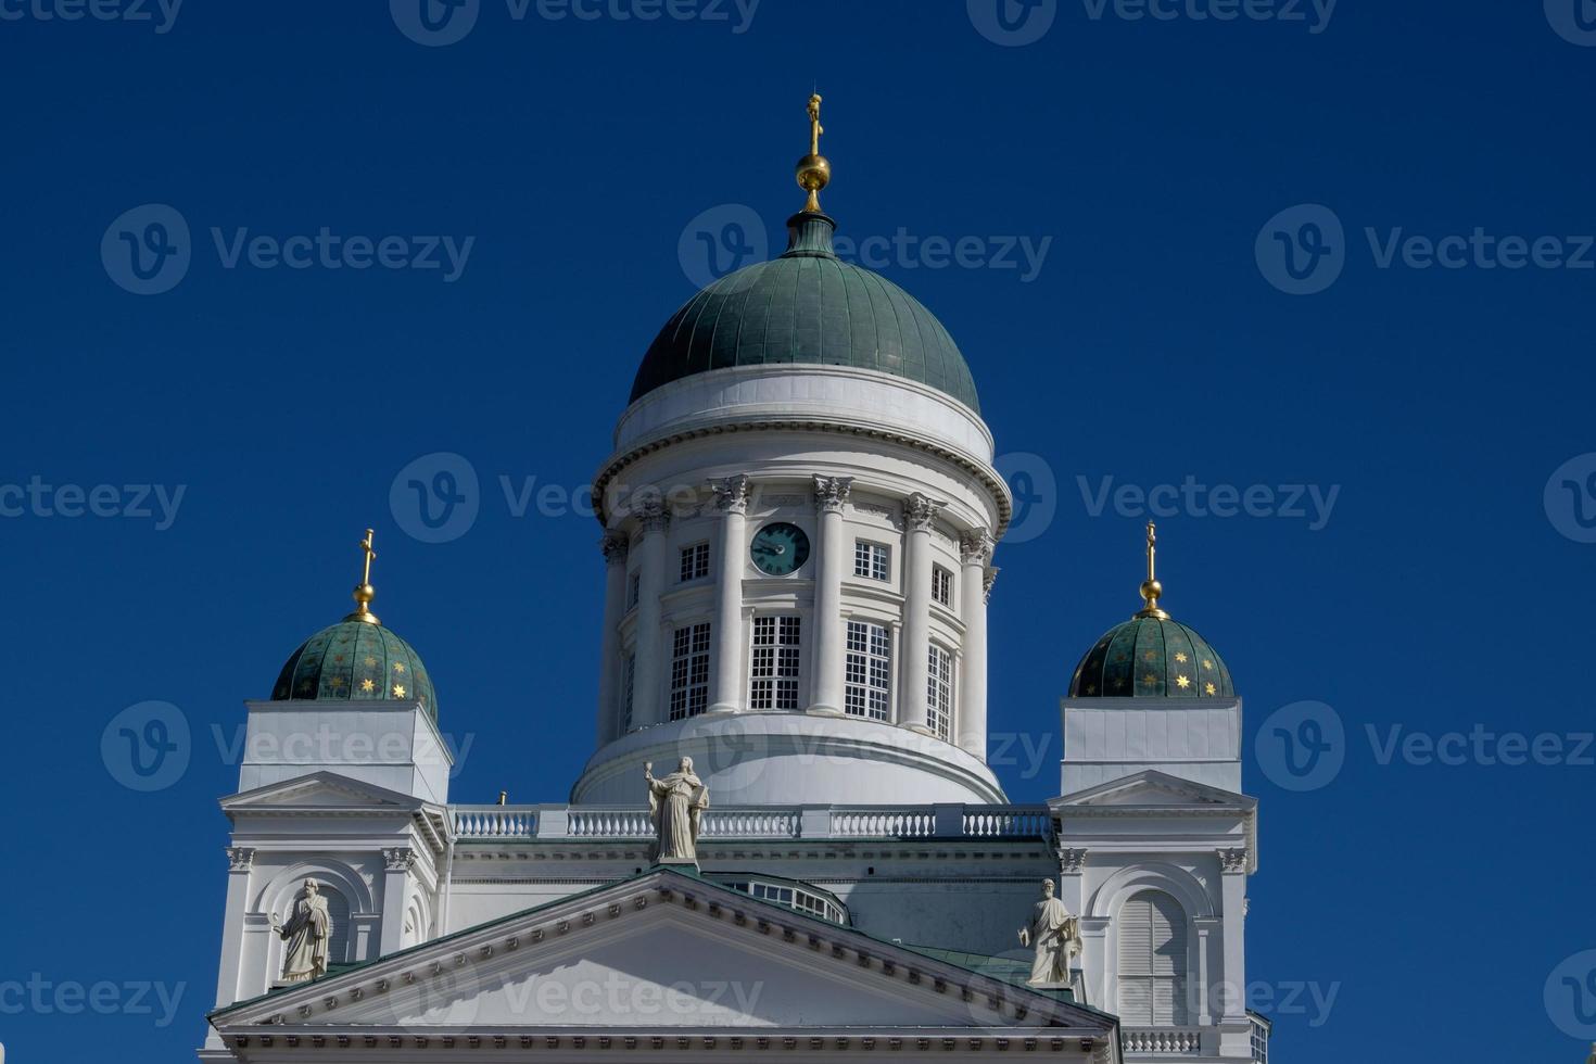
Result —
POLYGON ((1087 1000, 1120 1018, 1127 1059, 1256 1059, 1242 700, 1218 651, 1159 605, 1156 552, 1149 523, 1143 608, 1085 652, 1061 702, 1061 898, 1082 914, 1087 1000))

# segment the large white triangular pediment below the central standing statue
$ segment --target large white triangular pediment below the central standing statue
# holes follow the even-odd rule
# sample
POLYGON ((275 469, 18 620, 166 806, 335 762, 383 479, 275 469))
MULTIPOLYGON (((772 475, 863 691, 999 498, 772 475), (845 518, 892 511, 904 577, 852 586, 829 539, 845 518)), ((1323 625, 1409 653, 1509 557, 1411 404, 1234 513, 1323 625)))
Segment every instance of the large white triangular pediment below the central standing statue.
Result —
MULTIPOLYGON (((694 876, 651 869, 212 1015, 271 1031, 1045 1029, 1109 1016, 694 876)), ((1101 1045, 1101 1042, 1100 1042, 1101 1045)))

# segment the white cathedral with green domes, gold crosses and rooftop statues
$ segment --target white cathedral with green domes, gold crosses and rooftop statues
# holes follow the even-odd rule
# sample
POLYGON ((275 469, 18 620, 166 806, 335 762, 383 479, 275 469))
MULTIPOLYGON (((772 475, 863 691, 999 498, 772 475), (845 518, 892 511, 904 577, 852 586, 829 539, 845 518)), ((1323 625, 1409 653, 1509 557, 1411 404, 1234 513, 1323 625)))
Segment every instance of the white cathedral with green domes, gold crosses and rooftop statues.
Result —
POLYGON ((1162 608, 1149 526, 1058 796, 1007 799, 1010 493, 953 337, 835 254, 809 112, 787 250, 664 324, 598 467, 568 801, 452 801, 369 533, 356 611, 247 702, 201 1061, 1267 1061, 1231 673, 1162 608))

